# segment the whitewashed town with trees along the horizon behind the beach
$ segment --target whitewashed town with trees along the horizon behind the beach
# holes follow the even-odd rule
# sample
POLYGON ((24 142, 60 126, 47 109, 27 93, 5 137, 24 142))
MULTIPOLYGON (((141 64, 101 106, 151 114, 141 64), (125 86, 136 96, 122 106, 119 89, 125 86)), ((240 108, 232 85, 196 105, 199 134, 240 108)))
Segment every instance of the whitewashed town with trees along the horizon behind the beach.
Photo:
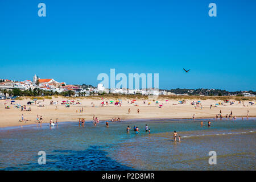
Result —
POLYGON ((244 96, 255 97, 253 91, 237 91, 228 92, 226 90, 216 89, 126 89, 126 88, 105 88, 103 84, 98 84, 97 87, 92 85, 68 85, 65 82, 58 82, 53 78, 40 78, 36 75, 31 80, 14 81, 8 79, 0 79, 0 98, 8 95, 6 90, 39 90, 40 96, 44 96, 46 93, 52 94, 64 94, 64 96, 80 97, 80 96, 92 96, 102 94, 141 94, 143 96, 159 96, 159 95, 197 95, 197 96, 244 96), (5 90, 5 91, 4 91, 5 90), (6 94, 7 93, 7 94, 6 94))

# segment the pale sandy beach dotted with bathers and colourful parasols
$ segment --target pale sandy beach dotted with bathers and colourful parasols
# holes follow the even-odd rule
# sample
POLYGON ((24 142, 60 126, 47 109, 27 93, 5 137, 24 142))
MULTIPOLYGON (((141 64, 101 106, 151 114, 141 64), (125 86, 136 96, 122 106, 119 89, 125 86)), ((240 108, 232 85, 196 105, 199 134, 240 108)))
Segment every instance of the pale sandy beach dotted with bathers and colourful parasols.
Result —
MULTIPOLYGON (((45 100, 44 107, 38 107, 38 105, 32 104, 27 105, 28 101, 31 100, 16 100, 15 104, 26 105, 27 108, 31 107, 32 111, 21 111, 21 109, 17 109, 14 105, 10 104, 9 101, 0 100, 0 127, 8 127, 8 126, 23 126, 23 125, 31 125, 36 123, 36 115, 39 114, 43 117, 43 123, 49 123, 49 120, 56 121, 56 118, 59 119, 59 122, 67 122, 67 121, 78 121, 79 118, 85 118, 86 121, 92 121, 93 115, 100 119, 100 121, 111 120, 112 118, 121 118, 121 120, 129 120, 129 119, 171 119, 171 118, 192 118, 192 115, 195 114, 196 118, 215 118, 216 114, 220 113, 220 109, 222 110, 222 116, 225 117, 226 114, 230 114, 230 111, 233 110, 233 116, 237 117, 246 117, 247 110, 249 110, 249 117, 256 116, 256 105, 249 105, 250 101, 245 101, 245 106, 242 104, 238 104, 238 101, 235 101, 235 104, 229 105, 229 103, 225 103, 225 105, 220 105, 217 107, 209 108, 210 104, 216 104, 216 100, 201 100, 201 104, 203 105, 203 109, 191 105, 192 101, 196 100, 186 100, 186 104, 178 104, 177 100, 159 101, 159 105, 163 105, 162 108, 159 108, 159 105, 156 105, 152 100, 151 105, 143 104, 143 100, 135 101, 139 106, 134 106, 131 104, 127 104, 127 100, 123 100, 123 104, 121 107, 114 106, 114 104, 110 104, 108 106, 101 107, 100 104, 102 100, 88 100, 84 98, 81 101, 81 105, 71 105, 71 107, 65 107, 65 105, 61 105, 61 101, 67 100, 67 98, 52 98, 52 100, 59 101, 57 105, 57 110, 55 110, 56 105, 49 105, 51 100, 45 100), (6 105, 4 105, 7 102, 6 105), (95 107, 91 106, 91 102, 95 104, 95 107), (173 105, 176 104, 176 105, 173 105), (5 109, 5 106, 9 105, 11 109, 5 109), (81 107, 84 107, 84 112, 80 113, 81 107), (128 109, 131 109, 131 113, 128 114, 128 109), (139 114, 137 114, 137 109, 140 110, 139 114), (77 110, 77 113, 76 113, 77 110), (24 115, 25 119, 31 120, 25 122, 19 122, 21 119, 21 115, 24 115)), ((73 100, 76 101, 76 98, 73 100)), ((43 102, 43 100, 38 100, 37 102, 43 102)), ((105 100, 105 101, 110 101, 105 100)), ((146 102, 147 103, 147 102, 146 102)))

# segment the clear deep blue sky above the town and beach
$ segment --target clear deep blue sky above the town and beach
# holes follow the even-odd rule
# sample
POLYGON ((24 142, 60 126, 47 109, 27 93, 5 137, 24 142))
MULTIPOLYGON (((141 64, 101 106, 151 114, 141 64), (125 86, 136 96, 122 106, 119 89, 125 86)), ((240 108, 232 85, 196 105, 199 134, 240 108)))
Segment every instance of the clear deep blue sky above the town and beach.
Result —
POLYGON ((0 78, 97 85, 159 73, 159 87, 256 90, 256 1, 0 1, 0 78), (38 4, 46 3, 46 17, 38 4), (208 5, 217 5, 209 17, 208 5), (189 73, 183 71, 191 69, 189 73))

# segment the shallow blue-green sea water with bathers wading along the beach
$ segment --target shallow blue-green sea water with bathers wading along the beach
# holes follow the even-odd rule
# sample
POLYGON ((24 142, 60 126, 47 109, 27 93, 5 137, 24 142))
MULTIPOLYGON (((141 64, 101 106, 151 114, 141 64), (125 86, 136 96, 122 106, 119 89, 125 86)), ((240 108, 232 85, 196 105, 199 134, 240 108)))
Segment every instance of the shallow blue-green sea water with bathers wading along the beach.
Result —
POLYGON ((91 122, 59 126, 30 126, 0 131, 2 170, 255 170, 255 119, 215 121, 200 119, 91 122), (151 135, 144 131, 148 125, 151 135), (126 132, 129 125, 141 132, 126 132), (173 131, 181 142, 172 140, 173 131), (209 165, 209 151, 217 164, 209 165), (38 164, 46 152, 46 165, 38 164))

